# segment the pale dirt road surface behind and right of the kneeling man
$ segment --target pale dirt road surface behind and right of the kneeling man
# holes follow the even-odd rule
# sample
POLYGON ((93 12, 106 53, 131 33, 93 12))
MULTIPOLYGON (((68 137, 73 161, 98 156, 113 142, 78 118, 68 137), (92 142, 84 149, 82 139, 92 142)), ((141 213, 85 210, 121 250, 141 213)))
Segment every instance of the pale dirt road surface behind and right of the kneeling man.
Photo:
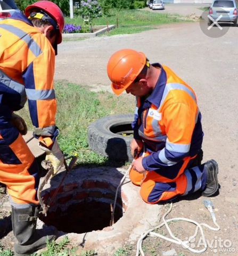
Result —
MULTIPOLYGON (((237 27, 229 28, 222 37, 211 38, 202 33, 199 22, 192 22, 161 26, 140 34, 65 42, 59 46, 56 58, 56 79, 86 85, 94 91, 110 91, 106 75, 110 55, 122 48, 132 48, 143 51, 150 62, 169 66, 193 87, 203 117, 203 161, 214 158, 219 165, 219 195, 210 200, 215 205, 220 230, 204 228, 206 238, 214 243, 213 249, 208 248, 204 253, 206 255, 237 255, 238 252, 237 46, 237 27)), ((207 198, 198 195, 180 199, 174 203, 168 218, 185 217, 213 226, 210 214, 203 206, 204 199, 207 198)), ((184 223, 175 222, 171 227, 184 239, 194 234, 193 226, 184 223)), ((4 243, 4 237, 0 237, 0 242, 4 243)), ((158 238, 147 238, 144 246, 146 255, 161 255, 162 251, 171 249, 180 256, 193 255, 158 238)))

